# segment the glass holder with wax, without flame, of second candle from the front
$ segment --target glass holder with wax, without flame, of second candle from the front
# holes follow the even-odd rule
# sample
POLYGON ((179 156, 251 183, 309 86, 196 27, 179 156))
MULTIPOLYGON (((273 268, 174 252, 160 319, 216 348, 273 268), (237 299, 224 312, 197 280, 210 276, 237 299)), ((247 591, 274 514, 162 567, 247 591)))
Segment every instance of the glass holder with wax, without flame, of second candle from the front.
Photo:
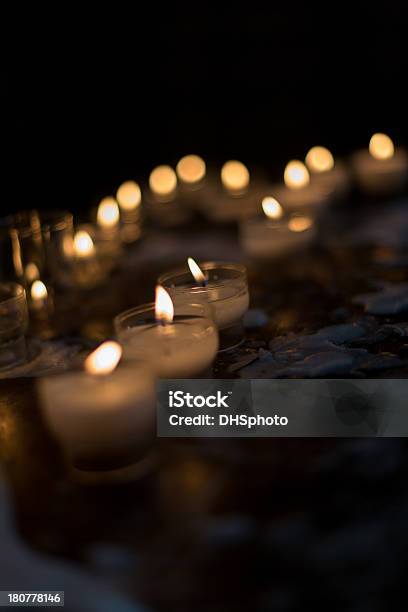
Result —
POLYGON ((114 319, 124 359, 146 360, 159 378, 207 378, 218 351, 218 331, 206 304, 175 305, 161 324, 155 304, 126 310, 114 319))

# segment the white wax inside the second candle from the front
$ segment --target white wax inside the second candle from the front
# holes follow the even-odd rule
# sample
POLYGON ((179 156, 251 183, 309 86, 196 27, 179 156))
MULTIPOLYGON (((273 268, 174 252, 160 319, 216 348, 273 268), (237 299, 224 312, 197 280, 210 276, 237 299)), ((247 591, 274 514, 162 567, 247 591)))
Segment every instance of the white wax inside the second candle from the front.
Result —
POLYGON ((205 373, 218 351, 218 333, 205 318, 131 327, 118 334, 124 357, 143 357, 160 378, 194 378, 205 373))

